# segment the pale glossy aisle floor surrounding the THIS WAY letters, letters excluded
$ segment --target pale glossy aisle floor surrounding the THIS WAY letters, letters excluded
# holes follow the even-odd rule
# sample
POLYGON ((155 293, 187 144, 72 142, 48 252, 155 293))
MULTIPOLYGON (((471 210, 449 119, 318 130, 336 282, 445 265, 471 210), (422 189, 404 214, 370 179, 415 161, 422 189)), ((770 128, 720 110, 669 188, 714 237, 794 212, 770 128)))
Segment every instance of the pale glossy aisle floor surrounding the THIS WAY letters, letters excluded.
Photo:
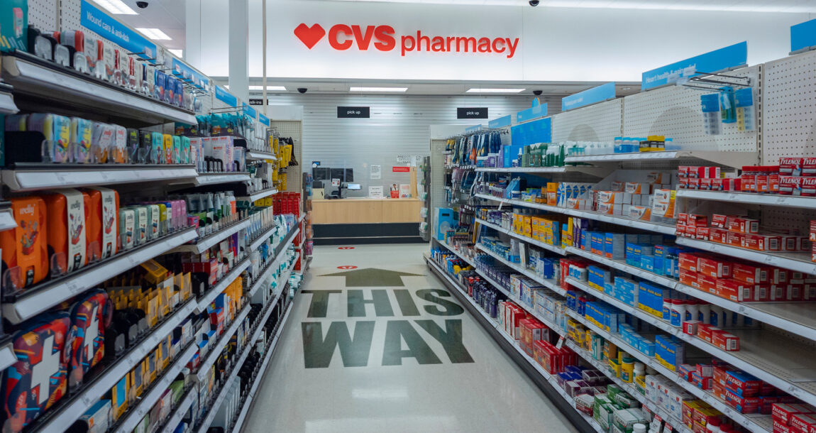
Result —
MULTIPOLYGON (((317 247, 303 287, 344 289, 344 277, 320 275, 340 272, 338 266, 358 266, 419 274, 402 277, 403 288, 412 293, 444 289, 424 264, 426 251, 427 245, 416 244, 366 245, 351 250, 317 247)), ((395 288, 400 287, 390 289, 395 288)), ((369 288, 361 289, 366 298, 371 297, 369 288)), ((344 292, 330 295, 327 317, 317 319, 307 317, 312 296, 299 293, 244 431, 575 431, 467 311, 447 317, 430 315, 423 306, 433 304, 415 296, 421 315, 401 317, 389 290, 393 317, 378 318, 368 305, 365 318, 348 318, 344 292), (474 362, 451 364, 441 343, 413 324, 441 364, 420 365, 415 358, 406 357, 402 365, 381 365, 388 321, 414 319, 434 319, 442 328, 445 319, 460 319, 463 344, 474 362), (367 366, 344 367, 335 350, 328 368, 304 367, 302 323, 318 321, 325 334, 332 322, 345 321, 353 332, 353 323, 361 320, 375 321, 367 366)), ((408 348, 405 341, 401 345, 408 348)))

